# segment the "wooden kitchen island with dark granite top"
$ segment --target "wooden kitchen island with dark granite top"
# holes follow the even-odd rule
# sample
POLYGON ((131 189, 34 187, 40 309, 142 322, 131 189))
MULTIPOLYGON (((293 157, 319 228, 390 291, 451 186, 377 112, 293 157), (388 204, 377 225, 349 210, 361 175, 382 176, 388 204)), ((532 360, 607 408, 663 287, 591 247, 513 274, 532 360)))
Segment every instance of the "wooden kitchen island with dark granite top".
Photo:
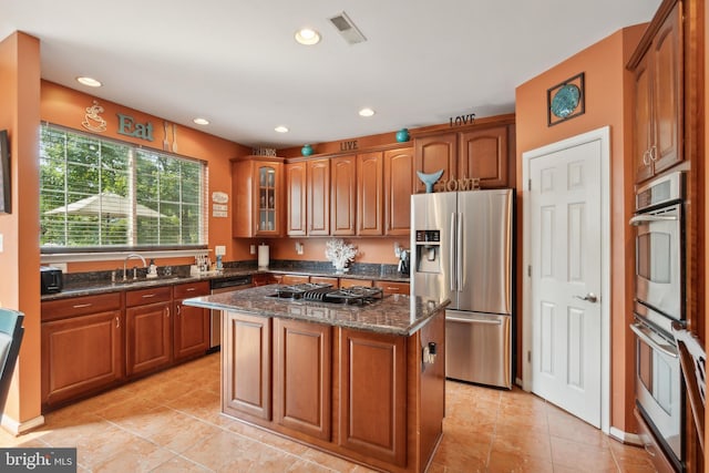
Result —
POLYGON ((277 288, 184 302, 223 311, 222 411, 376 470, 425 471, 442 435, 448 301, 335 305, 277 288))

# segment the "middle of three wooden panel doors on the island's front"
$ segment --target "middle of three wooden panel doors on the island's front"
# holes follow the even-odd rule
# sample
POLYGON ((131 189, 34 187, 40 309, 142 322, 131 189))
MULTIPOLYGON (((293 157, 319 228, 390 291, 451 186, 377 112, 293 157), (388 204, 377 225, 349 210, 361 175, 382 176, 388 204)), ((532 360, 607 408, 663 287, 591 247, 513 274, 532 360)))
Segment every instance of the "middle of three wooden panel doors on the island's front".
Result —
POLYGON ((274 319, 274 422, 330 440, 332 327, 274 319))

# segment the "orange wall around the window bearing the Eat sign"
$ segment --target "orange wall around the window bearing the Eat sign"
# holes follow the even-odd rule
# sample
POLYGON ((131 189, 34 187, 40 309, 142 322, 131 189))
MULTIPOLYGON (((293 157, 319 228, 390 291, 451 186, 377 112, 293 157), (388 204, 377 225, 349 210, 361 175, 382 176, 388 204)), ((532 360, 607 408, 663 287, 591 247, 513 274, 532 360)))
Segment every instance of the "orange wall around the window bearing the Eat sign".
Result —
MULTIPOLYGON (((163 142, 166 138, 168 146, 173 145, 173 124, 168 122, 167 136, 165 136, 164 121, 160 117, 148 115, 137 110, 129 109, 113 102, 105 101, 94 95, 75 91, 52 82, 42 81, 41 90, 41 120, 44 122, 75 128, 86 133, 93 133, 97 136, 105 136, 123 142, 140 144, 145 147, 163 150, 163 142), (82 126, 85 120, 86 107, 93 105, 93 101, 97 101, 104 109, 100 115, 106 121, 105 132, 91 132, 82 126), (151 123, 153 125, 154 141, 150 142, 137 137, 119 134, 117 114, 129 115, 134 119, 135 123, 151 123)), ((208 220, 208 245, 214 250, 216 245, 226 246, 227 254, 225 260, 251 259, 248 251, 244 251, 243 245, 238 245, 232 239, 232 216, 233 199, 229 199, 228 217, 212 216, 212 193, 219 191, 232 194, 232 165, 229 158, 249 154, 250 148, 219 138, 214 135, 201 132, 183 125, 175 125, 177 128, 176 142, 179 155, 194 157, 206 161, 208 166, 208 193, 209 203, 209 220, 208 220)), ((169 151, 169 150, 168 150, 169 151)), ((214 255, 214 254, 212 254, 214 255)), ((213 256, 214 259, 214 256, 213 256)), ((188 264, 192 258, 181 259, 156 259, 158 266, 172 264, 188 264)), ((72 263, 69 265, 70 273, 114 269, 115 261, 106 263, 72 263)))

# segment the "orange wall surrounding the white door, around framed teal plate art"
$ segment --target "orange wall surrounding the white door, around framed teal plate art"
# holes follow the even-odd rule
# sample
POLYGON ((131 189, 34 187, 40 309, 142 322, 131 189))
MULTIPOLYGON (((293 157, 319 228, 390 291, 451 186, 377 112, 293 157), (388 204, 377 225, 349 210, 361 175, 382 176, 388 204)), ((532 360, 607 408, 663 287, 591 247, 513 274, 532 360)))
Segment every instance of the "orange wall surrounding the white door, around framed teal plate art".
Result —
MULTIPOLYGON (((516 89, 517 189, 522 182, 522 154, 602 126, 610 126, 610 425, 635 432, 633 419, 634 356, 631 280, 633 241, 627 225, 631 214, 631 124, 633 75, 625 69, 646 25, 628 27, 561 62, 516 89), (585 113, 567 122, 547 126, 547 89, 585 72, 585 113)), ((517 228, 522 228, 522 197, 517 196, 517 228)), ((522 232, 522 230, 520 230, 522 232)), ((522 244, 517 241, 517 287, 523 285, 522 244)), ((517 322, 517 376, 522 370, 522 313, 517 322)))

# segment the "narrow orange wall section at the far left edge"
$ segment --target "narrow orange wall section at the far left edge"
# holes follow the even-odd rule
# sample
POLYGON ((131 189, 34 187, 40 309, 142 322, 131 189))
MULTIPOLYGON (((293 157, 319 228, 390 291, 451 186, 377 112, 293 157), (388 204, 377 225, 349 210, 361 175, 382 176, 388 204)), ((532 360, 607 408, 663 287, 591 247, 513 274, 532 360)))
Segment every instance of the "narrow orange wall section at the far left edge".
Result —
MULTIPOLYGON (((0 42, 0 128, 10 140, 12 207, 0 214, 0 306, 24 312, 24 338, 4 413, 23 423, 40 410, 38 123, 39 40, 16 32, 0 42)), ((3 419, 4 421, 6 419, 3 419)))

